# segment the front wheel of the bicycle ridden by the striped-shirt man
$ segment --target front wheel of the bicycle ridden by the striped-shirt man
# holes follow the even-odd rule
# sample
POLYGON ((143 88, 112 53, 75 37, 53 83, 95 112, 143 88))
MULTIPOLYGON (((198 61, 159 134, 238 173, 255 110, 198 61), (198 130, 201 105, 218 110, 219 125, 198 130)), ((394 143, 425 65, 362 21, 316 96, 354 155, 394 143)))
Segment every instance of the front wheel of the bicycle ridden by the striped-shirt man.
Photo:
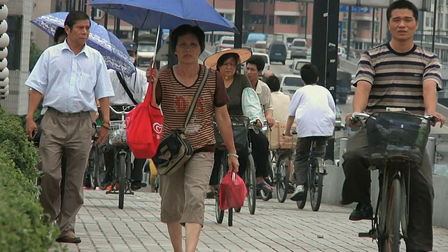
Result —
MULTIPOLYGON (((379 234, 379 251, 400 251, 400 219, 402 215, 401 184, 398 179, 393 179, 388 190, 386 211, 381 214, 385 221, 384 231, 379 234)), ((380 218, 380 221, 381 221, 380 218)))

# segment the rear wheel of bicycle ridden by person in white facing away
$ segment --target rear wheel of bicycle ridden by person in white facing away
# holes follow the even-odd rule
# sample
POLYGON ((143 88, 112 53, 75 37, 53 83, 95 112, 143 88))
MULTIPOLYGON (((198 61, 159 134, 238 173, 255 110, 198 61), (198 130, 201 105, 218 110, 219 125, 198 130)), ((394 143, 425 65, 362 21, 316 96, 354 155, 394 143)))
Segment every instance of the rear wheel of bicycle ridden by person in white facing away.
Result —
POLYGON ((320 165, 323 164, 322 158, 314 158, 309 169, 309 199, 311 200, 311 209, 313 211, 318 211, 321 207, 322 200, 322 186, 323 186, 323 174, 319 172, 320 165))

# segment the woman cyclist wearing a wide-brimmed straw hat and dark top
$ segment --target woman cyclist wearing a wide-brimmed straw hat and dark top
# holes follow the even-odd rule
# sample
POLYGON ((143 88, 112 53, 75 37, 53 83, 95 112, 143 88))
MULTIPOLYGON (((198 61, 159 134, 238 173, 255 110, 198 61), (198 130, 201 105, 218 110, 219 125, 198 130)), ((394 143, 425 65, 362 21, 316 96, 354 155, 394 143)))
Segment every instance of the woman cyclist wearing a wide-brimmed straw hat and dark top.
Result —
MULTIPOLYGON (((251 121, 257 122, 258 126, 262 126, 262 118, 264 118, 260 106, 260 100, 255 90, 252 88, 248 78, 237 73, 237 66, 243 64, 252 56, 252 52, 246 49, 227 49, 216 52, 214 55, 204 60, 204 65, 217 69, 224 76, 225 89, 228 92, 229 102, 227 104, 228 111, 231 116, 246 116, 251 121)), ((257 176, 257 188, 259 190, 272 190, 272 187, 266 183, 264 177, 267 176, 267 154, 269 151, 269 142, 265 134, 257 134, 253 130, 249 130, 249 136, 252 142, 253 159, 255 160, 257 176)), ((216 151, 214 169, 211 173, 209 185, 218 185, 218 175, 222 151, 216 151)), ((248 157, 245 148, 237 150, 239 156, 239 176, 243 176, 246 171, 248 157)), ((214 192, 209 188, 207 197, 213 197, 214 192)))

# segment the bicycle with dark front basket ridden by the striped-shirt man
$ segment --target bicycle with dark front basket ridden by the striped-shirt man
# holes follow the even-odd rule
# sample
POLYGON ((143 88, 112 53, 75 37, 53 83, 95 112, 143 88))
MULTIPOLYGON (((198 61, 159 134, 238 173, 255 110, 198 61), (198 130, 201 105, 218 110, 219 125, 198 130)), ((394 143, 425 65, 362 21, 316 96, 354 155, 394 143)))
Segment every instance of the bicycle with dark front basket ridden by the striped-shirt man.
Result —
POLYGON ((409 172, 419 169, 426 152, 430 121, 437 119, 405 112, 353 113, 351 117, 352 121, 360 121, 367 132, 369 169, 379 169, 372 229, 358 233, 358 237, 376 239, 380 252, 399 251, 400 239, 407 238, 409 172))

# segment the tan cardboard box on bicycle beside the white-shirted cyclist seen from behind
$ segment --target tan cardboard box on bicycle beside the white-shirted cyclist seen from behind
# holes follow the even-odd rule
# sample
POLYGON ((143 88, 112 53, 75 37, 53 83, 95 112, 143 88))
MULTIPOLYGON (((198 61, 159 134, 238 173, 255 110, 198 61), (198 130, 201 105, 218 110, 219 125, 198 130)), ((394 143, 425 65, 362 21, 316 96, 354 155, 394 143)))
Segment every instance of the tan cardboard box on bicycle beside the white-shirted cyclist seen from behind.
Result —
MULTIPOLYGON (((295 125, 292 127, 295 129, 295 125)), ((284 148, 284 149, 293 149, 295 148, 295 144, 297 144, 297 135, 293 135, 293 137, 283 136, 283 132, 286 129, 286 123, 280 123, 276 121, 271 130, 267 131, 267 139, 269 140, 269 148, 284 148)))

